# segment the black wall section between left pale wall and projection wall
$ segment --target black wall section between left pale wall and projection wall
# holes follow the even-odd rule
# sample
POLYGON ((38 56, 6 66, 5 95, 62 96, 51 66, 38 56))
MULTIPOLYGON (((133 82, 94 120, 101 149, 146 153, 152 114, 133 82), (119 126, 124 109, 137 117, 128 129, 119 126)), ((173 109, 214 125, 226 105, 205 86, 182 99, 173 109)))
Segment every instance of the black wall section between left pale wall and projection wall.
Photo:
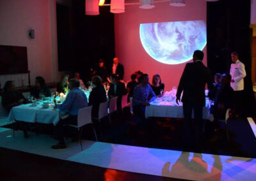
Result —
POLYGON ((60 71, 77 71, 88 81, 100 58, 111 66, 115 57, 115 29, 109 6, 100 7, 100 15, 88 16, 84 0, 73 0, 72 7, 59 4, 57 25, 60 71))

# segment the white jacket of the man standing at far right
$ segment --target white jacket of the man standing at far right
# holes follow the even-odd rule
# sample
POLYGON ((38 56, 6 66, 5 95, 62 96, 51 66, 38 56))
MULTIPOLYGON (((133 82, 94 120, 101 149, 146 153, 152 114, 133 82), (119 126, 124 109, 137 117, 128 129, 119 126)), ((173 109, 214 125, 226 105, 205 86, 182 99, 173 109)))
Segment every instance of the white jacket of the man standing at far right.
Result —
POLYGON ((244 90, 244 77, 246 76, 246 71, 244 69, 244 64, 237 60, 234 64, 231 64, 230 75, 234 82, 230 83, 230 86, 234 91, 244 90))

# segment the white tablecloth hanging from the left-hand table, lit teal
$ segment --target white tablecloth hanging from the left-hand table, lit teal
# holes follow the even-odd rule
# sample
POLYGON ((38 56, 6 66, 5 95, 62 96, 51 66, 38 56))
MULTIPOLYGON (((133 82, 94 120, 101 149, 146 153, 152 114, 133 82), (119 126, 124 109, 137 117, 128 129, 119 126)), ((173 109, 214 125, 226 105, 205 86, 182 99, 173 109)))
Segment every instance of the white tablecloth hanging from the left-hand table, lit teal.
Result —
POLYGON ((52 107, 42 108, 42 103, 37 106, 32 106, 31 104, 20 105, 12 108, 8 119, 10 121, 21 120, 24 122, 54 124, 55 126, 60 120, 60 112, 52 107))

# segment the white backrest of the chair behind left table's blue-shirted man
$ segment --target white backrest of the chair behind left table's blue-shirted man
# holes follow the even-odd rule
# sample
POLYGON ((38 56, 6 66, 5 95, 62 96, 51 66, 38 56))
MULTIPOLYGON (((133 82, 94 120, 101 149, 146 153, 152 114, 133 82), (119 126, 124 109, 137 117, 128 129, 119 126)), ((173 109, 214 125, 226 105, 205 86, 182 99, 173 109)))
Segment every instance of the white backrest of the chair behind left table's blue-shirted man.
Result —
POLYGON ((81 108, 77 115, 77 126, 82 127, 92 123, 92 106, 81 108))

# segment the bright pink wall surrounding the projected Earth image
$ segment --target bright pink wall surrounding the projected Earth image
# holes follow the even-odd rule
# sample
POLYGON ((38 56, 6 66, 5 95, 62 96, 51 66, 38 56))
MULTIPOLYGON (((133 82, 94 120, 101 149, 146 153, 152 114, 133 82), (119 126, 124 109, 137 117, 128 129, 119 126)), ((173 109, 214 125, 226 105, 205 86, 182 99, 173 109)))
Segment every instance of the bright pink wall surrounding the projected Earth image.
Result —
MULTIPOLYGON (((169 6, 168 2, 156 3, 152 10, 142 10, 138 5, 125 6, 125 13, 115 14, 116 56, 125 67, 125 78, 129 80, 132 72, 140 69, 150 76, 159 73, 165 83, 165 91, 179 85, 180 76, 186 63, 177 65, 162 64, 152 59, 141 45, 140 24, 152 22, 171 22, 204 20, 206 22, 206 1, 186 1, 185 7, 169 6)), ((204 48, 206 64, 206 47, 204 48)))

